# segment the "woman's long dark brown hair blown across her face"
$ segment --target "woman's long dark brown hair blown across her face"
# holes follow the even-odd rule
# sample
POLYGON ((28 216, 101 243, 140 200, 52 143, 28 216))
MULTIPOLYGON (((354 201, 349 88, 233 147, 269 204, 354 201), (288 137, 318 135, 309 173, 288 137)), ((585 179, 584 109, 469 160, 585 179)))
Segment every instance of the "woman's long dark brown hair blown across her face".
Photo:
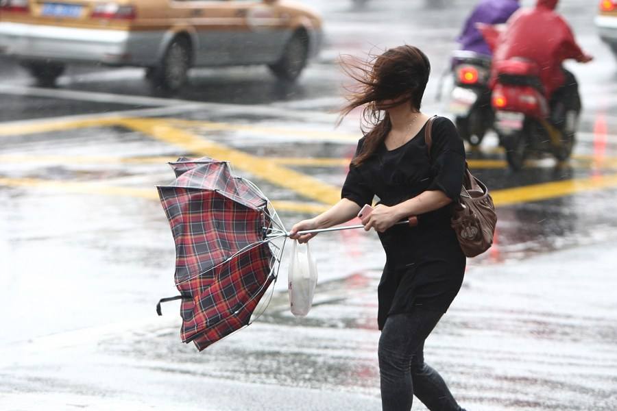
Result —
POLYGON ((341 109, 339 121, 355 108, 364 106, 361 130, 365 141, 361 152, 352 160, 352 165, 357 166, 376 151, 390 131, 385 110, 409 102, 413 110, 420 111, 431 63, 418 47, 404 45, 371 56, 366 62, 355 59, 344 62, 342 67, 356 84, 347 88, 348 103, 341 109), (383 103, 387 100, 392 103, 383 103))

